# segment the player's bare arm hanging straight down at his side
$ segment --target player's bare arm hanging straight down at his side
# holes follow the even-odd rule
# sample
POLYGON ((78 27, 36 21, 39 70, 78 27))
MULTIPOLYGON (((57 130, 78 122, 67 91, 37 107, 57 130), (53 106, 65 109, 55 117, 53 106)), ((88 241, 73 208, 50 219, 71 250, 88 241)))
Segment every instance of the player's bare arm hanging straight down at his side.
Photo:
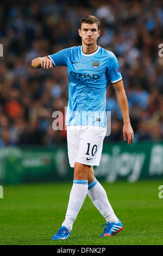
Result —
POLYGON ((133 128, 130 124, 129 118, 129 110, 128 110, 128 101, 126 92, 124 90, 123 81, 118 81, 117 83, 112 83, 116 92, 116 97, 118 101, 118 105, 121 109, 121 113, 123 116, 123 137, 124 141, 126 141, 128 137, 128 144, 132 144, 134 140, 134 132, 133 128))

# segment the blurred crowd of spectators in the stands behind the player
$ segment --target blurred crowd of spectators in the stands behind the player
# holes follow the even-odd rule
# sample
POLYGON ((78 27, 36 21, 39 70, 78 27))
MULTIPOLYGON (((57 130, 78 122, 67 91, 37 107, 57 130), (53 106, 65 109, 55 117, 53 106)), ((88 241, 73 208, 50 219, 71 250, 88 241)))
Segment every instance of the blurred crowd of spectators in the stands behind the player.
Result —
MULTIPOLYGON (((54 131, 54 111, 68 101, 67 68, 34 69, 32 59, 81 44, 79 20, 101 22, 98 44, 115 53, 128 97, 134 141, 163 139, 163 2, 145 1, 1 1, 0 147, 54 146, 66 131, 54 131)), ((123 119, 112 84, 106 94, 111 135, 123 139, 123 119)), ((65 121, 63 115, 63 122, 65 121)))

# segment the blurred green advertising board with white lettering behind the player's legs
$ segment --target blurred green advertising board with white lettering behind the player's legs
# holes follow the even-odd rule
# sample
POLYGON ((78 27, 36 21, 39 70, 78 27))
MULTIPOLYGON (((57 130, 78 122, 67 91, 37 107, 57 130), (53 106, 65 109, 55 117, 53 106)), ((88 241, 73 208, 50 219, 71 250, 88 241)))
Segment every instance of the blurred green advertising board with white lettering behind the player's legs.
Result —
MULTIPOLYGON (((67 147, 4 148, 0 150, 0 184, 33 181, 67 181, 73 168, 67 147)), ((163 177, 163 143, 124 143, 103 145, 100 165, 94 167, 99 180, 115 182, 163 177)))

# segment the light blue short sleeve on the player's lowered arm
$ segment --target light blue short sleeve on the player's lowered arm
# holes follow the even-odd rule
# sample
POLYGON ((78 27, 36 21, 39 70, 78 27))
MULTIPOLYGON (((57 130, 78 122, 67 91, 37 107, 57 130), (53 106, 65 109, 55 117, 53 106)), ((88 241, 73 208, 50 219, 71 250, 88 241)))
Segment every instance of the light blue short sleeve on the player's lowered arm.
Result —
POLYGON ((114 53, 111 52, 110 54, 111 56, 109 56, 108 60, 108 76, 111 83, 116 83, 122 80, 121 70, 114 53))

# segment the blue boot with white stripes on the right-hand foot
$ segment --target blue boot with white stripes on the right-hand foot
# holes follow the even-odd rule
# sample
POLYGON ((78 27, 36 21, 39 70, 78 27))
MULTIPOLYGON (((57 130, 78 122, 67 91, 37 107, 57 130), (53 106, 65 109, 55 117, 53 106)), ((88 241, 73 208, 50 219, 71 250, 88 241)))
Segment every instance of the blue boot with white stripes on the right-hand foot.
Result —
POLYGON ((109 221, 106 224, 103 224, 101 227, 106 225, 104 228, 103 234, 101 236, 112 236, 123 231, 123 225, 120 219, 118 219, 118 223, 110 223, 109 221))

